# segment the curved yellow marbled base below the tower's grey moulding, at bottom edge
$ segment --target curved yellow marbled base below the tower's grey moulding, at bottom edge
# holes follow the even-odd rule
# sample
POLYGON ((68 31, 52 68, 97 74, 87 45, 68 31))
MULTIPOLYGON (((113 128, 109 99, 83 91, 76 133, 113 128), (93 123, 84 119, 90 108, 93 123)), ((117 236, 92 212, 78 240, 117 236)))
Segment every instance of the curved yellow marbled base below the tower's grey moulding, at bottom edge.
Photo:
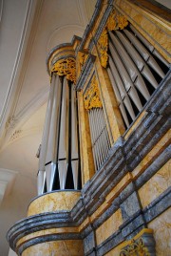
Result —
POLYGON ((80 240, 54 241, 33 245, 22 256, 83 256, 83 242, 80 240))

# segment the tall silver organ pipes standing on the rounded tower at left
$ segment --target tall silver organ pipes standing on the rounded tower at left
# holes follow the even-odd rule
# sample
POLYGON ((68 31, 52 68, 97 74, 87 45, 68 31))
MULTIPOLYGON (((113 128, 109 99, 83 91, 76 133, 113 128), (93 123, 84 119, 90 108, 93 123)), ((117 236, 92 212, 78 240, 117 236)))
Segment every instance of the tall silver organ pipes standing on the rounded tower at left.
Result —
POLYGON ((53 189, 78 189, 78 179, 76 92, 66 76, 53 74, 39 159, 38 195, 53 189), (72 180, 69 186, 67 176, 72 180))

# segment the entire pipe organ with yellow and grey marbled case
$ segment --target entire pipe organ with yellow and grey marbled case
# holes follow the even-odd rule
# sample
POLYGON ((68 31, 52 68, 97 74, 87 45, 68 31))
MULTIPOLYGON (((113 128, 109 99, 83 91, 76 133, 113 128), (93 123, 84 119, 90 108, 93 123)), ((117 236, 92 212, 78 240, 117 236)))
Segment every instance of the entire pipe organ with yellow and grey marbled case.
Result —
POLYGON ((99 0, 83 38, 48 54, 38 196, 8 232, 18 255, 170 255, 169 24, 155 1, 99 0))

